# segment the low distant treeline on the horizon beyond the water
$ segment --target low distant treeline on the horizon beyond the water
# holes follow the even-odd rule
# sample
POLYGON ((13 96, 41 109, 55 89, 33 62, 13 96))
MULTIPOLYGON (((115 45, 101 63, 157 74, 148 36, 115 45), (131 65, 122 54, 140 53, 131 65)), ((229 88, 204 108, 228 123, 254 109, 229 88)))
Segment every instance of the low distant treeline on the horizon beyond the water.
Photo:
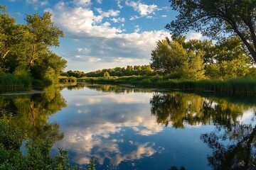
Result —
POLYGON ((99 69, 95 72, 72 71, 63 72, 61 76, 67 77, 123 77, 123 76, 153 76, 156 73, 151 69, 150 65, 138 65, 127 67, 115 67, 114 69, 99 69))

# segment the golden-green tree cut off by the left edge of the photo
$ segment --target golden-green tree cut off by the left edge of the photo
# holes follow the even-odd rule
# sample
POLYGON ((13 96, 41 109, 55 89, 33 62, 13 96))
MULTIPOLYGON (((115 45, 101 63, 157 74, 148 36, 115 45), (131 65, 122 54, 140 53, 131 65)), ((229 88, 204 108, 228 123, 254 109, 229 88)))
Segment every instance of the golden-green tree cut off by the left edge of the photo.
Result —
POLYGON ((16 24, 6 6, 0 5, 0 72, 14 72, 18 65, 26 64, 28 30, 16 24))

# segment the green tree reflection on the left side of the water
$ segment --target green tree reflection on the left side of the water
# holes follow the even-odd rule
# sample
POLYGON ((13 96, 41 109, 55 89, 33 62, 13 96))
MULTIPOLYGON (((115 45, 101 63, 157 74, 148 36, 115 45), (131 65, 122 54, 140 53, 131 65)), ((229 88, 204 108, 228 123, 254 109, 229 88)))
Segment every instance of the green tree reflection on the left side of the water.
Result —
POLYGON ((48 117, 66 106, 58 86, 48 86, 43 94, 0 96, 0 110, 12 113, 12 123, 26 131, 31 142, 48 140, 52 145, 63 139, 60 126, 48 117))

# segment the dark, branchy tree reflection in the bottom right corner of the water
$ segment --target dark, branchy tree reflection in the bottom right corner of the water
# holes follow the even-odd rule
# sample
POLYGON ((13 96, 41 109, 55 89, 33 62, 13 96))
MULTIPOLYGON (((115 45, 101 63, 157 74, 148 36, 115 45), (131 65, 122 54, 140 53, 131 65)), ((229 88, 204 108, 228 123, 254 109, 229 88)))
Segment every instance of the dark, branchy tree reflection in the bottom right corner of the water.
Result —
POLYGON ((233 124, 230 129, 216 125, 215 132, 201 135, 213 149, 208 161, 213 169, 256 169, 256 126, 233 124), (224 130, 224 132, 222 132, 224 130))

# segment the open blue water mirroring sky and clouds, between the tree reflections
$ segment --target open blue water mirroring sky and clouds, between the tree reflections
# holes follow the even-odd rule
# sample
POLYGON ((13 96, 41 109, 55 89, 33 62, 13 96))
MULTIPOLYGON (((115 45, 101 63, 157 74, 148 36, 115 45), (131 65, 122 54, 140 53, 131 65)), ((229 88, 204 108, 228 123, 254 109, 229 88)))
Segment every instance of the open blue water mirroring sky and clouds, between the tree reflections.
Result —
MULTIPOLYGON (((188 125, 173 128, 156 122, 150 100, 154 92, 103 92, 63 89, 67 107, 50 117, 65 137, 55 143, 67 149, 70 161, 86 169, 97 159, 97 169, 211 169, 207 155, 212 150, 201 135, 215 125, 188 125)), ((240 121, 250 122, 252 111, 240 121)))

